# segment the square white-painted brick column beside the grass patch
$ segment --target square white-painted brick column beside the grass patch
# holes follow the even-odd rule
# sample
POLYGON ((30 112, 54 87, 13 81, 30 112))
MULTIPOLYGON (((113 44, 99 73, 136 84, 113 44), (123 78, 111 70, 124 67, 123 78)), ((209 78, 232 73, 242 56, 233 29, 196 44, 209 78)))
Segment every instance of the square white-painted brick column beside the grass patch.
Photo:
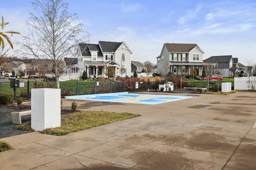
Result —
POLYGON ((31 89, 31 128, 42 131, 60 127, 60 89, 31 89))

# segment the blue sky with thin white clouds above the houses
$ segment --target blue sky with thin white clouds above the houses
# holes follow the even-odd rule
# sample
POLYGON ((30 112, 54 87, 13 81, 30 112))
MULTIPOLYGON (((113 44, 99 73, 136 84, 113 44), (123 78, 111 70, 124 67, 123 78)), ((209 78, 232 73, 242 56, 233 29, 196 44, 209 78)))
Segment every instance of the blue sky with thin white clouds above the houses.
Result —
MULTIPOLYGON (((3 1, 0 15, 10 22, 4 31, 28 35, 31 0, 3 1)), ((125 42, 132 61, 151 61, 164 43, 193 43, 204 59, 232 55, 246 66, 256 63, 255 0, 64 0, 77 13, 90 43, 125 42)), ((14 34, 12 41, 22 41, 14 34)), ((15 50, 15 47, 14 47, 15 50)))

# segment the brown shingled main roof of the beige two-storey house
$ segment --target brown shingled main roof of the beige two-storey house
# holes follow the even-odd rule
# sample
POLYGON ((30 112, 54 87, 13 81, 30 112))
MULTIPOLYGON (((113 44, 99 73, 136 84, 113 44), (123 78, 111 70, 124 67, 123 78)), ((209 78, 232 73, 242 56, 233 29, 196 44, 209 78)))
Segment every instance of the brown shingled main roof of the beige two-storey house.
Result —
POLYGON ((164 43, 164 45, 169 53, 187 53, 187 52, 191 51, 192 49, 194 49, 195 47, 198 47, 198 45, 196 45, 196 44, 164 43))

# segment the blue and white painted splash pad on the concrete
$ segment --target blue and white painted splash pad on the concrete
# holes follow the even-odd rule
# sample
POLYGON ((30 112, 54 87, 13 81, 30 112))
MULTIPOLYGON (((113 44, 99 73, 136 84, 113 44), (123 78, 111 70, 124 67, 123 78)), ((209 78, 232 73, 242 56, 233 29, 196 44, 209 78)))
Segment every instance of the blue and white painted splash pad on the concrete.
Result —
POLYGON ((99 102, 118 102, 132 104, 161 104, 166 102, 174 102, 194 98, 194 96, 172 96, 172 95, 153 95, 153 94, 134 94, 128 92, 105 93, 105 94, 89 94, 78 96, 66 96, 66 99, 73 100, 90 100, 99 102))

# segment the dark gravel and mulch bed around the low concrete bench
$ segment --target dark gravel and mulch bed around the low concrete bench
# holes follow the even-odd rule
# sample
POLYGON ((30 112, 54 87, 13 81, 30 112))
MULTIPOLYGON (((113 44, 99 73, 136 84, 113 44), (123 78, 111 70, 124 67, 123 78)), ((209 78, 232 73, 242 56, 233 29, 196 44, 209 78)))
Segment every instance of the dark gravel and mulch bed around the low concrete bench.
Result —
MULTIPOLYGON (((30 110, 30 105, 17 105, 8 104, 0 105, 0 139, 5 137, 11 137, 15 135, 21 135, 24 133, 29 133, 28 131, 16 130, 17 124, 12 124, 12 111, 24 111, 30 110)), ((72 110, 62 109, 61 115, 73 113, 72 110)), ((25 115, 21 117, 22 123, 31 121, 31 115, 25 115)))

